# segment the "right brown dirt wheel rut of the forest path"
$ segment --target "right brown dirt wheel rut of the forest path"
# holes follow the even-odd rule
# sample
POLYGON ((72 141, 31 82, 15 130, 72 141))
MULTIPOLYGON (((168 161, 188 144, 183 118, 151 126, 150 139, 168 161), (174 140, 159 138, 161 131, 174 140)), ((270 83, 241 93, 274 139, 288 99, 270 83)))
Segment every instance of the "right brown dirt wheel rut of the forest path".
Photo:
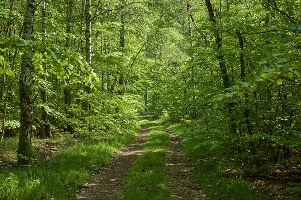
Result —
POLYGON ((172 143, 166 151, 165 173, 173 179, 172 197, 181 200, 205 199, 199 186, 190 177, 192 168, 184 162, 180 139, 170 129, 167 132, 172 143))

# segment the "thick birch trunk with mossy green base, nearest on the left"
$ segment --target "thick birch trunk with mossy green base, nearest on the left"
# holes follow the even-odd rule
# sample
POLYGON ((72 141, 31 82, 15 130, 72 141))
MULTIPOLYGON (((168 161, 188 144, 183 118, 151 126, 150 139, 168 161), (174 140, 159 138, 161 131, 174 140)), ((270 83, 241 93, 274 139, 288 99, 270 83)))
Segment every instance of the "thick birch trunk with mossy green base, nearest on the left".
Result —
MULTIPOLYGON (((27 0, 24 16, 24 30, 22 38, 31 40, 33 35, 33 22, 35 13, 35 0, 27 0)), ((21 74, 19 81, 20 92, 20 134, 18 143, 18 165, 32 163, 32 125, 33 125, 33 98, 31 88, 31 53, 22 55, 21 74)))

